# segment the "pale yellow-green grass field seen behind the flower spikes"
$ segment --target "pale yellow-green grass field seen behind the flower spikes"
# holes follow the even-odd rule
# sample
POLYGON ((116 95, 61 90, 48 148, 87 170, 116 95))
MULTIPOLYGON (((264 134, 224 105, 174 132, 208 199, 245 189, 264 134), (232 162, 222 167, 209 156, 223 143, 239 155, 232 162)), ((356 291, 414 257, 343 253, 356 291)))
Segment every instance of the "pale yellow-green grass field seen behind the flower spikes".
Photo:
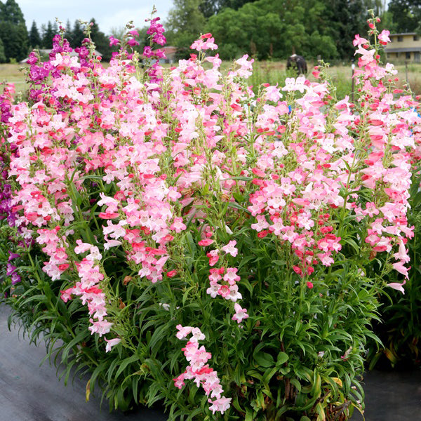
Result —
MULTIPOLYGON (((223 69, 228 69, 229 67, 230 64, 228 62, 223 63, 222 65, 223 69)), ((0 82, 13 82, 15 83, 17 94, 20 92, 25 93, 28 86, 25 81, 25 72, 22 72, 23 68, 24 66, 18 64, 1 64, 0 82)), ((396 69, 398 69, 399 83, 402 85, 406 82, 406 78, 408 77, 408 82, 413 93, 415 93, 415 95, 421 95, 421 64, 409 64, 407 67, 405 65, 396 65, 396 69)), ((311 72, 312 63, 309 65, 307 77, 310 81, 314 81, 316 79, 314 79, 311 72)), ((351 95, 352 69, 350 65, 329 67, 328 74, 337 88, 338 98, 344 98, 345 95, 351 95)), ((253 75, 250 77, 249 81, 250 85, 253 86, 258 86, 261 83, 270 83, 271 85, 279 83, 279 85, 282 86, 287 76, 285 62, 255 62, 255 65, 253 65, 253 75)))

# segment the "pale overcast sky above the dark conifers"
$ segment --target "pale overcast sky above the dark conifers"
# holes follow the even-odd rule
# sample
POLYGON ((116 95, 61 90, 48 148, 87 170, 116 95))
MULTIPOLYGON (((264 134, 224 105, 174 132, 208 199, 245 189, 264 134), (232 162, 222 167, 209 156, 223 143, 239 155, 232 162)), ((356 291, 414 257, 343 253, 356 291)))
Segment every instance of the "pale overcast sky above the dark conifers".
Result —
POLYGON ((129 20, 136 27, 146 25, 155 4, 157 15, 165 20, 168 11, 173 7, 173 0, 16 0, 20 6, 28 29, 35 20, 38 29, 42 24, 52 23, 58 18, 66 24, 69 19, 73 26, 76 19, 91 20, 95 18, 100 30, 109 34, 112 28, 121 28, 129 20))

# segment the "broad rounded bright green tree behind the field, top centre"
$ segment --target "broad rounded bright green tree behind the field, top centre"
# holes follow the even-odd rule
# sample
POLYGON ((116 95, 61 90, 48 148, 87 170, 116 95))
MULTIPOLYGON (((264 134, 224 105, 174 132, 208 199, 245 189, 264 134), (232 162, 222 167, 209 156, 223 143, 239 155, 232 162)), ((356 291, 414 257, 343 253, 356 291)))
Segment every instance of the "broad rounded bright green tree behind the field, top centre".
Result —
POLYGON ((234 11, 223 8, 209 18, 206 32, 215 36, 222 58, 243 53, 258 59, 286 58, 291 53, 324 59, 338 51, 328 33, 326 5, 319 0, 258 0, 234 11))

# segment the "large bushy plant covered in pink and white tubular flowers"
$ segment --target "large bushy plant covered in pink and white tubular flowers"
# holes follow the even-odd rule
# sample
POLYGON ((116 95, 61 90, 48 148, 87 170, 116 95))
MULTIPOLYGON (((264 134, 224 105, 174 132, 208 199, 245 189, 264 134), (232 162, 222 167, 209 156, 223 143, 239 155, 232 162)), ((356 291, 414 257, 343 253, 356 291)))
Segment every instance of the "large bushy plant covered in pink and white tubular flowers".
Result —
POLYGON ((222 74, 211 34, 163 69, 154 15, 143 54, 128 24, 107 68, 89 25, 77 57, 64 28, 48 62, 31 54, 29 99, 2 106, 3 289, 66 378, 91 374, 87 399, 99 385, 170 420, 363 411, 378 294, 408 277, 420 142, 378 21, 354 39, 354 103, 323 67, 253 91, 253 60, 222 74))

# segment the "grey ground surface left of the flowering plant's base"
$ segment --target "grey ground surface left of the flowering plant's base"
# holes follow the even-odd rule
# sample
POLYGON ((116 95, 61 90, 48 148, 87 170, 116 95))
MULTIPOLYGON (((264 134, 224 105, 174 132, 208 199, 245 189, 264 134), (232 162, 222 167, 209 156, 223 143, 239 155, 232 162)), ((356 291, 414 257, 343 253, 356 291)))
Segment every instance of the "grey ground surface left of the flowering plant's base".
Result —
POLYGON ((85 402, 86 382, 78 377, 65 386, 55 367, 40 363, 38 347, 22 338, 18 328, 8 330, 8 307, 0 305, 0 421, 166 421, 163 411, 140 408, 125 415, 100 408, 100 396, 85 402))

